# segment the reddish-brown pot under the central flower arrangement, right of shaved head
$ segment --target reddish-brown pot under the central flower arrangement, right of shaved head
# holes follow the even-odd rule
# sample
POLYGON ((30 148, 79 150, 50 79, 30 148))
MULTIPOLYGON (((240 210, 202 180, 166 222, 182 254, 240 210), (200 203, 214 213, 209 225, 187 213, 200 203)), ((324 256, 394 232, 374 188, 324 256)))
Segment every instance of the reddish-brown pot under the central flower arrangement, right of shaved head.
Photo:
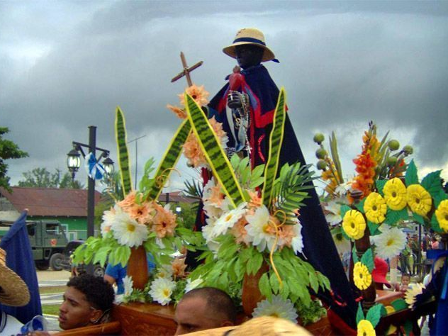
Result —
POLYGON ((262 267, 257 271, 257 274, 245 274, 242 281, 242 293, 241 293, 241 303, 242 309, 248 316, 252 315, 252 312, 257 307, 257 303, 264 299, 262 293, 258 288, 258 281, 264 273, 269 271, 269 265, 263 262, 262 267))

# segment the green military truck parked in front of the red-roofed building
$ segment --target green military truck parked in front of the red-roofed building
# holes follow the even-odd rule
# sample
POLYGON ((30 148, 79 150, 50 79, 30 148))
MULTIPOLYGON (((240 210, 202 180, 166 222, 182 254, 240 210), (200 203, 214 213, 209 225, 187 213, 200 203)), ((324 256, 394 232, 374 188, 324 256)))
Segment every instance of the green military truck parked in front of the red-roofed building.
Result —
MULTIPOLYGON (((0 239, 13 225, 0 221, 0 239)), ((55 271, 62 269, 62 252, 67 245, 64 228, 57 220, 30 220, 26 222, 35 267, 40 270, 51 267, 55 271)))

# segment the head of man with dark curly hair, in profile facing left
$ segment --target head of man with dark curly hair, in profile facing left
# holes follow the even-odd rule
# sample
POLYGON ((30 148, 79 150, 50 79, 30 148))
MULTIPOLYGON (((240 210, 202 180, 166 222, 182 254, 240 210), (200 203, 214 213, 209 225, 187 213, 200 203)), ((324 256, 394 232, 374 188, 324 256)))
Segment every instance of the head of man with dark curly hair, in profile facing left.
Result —
POLYGON ((67 282, 64 301, 59 308, 59 326, 63 330, 98 323, 112 308, 111 284, 90 274, 73 277, 67 282))

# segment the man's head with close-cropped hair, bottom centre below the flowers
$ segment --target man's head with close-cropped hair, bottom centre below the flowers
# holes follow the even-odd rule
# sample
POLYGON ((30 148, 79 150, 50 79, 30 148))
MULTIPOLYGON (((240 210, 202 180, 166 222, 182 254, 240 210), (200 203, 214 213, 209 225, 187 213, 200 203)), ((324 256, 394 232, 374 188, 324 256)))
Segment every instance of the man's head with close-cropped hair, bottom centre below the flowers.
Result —
POLYGON ((212 287, 193 289, 176 308, 176 335, 235 324, 235 306, 225 291, 212 287))

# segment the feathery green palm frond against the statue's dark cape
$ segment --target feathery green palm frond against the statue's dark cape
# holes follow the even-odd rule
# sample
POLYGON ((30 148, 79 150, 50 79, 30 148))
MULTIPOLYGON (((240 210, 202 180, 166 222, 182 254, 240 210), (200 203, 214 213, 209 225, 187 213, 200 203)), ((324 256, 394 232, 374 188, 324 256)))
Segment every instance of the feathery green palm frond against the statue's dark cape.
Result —
MULTIPOLYGON (((314 186, 310 182, 315 179, 314 172, 310 171, 310 164, 302 166, 300 162, 293 165, 284 164, 280 176, 276 179, 273 189, 273 206, 286 213, 286 224, 296 223, 295 211, 304 206, 302 202, 308 198, 308 190, 314 186)), ((284 220, 284 214, 278 213, 277 218, 284 220)))

